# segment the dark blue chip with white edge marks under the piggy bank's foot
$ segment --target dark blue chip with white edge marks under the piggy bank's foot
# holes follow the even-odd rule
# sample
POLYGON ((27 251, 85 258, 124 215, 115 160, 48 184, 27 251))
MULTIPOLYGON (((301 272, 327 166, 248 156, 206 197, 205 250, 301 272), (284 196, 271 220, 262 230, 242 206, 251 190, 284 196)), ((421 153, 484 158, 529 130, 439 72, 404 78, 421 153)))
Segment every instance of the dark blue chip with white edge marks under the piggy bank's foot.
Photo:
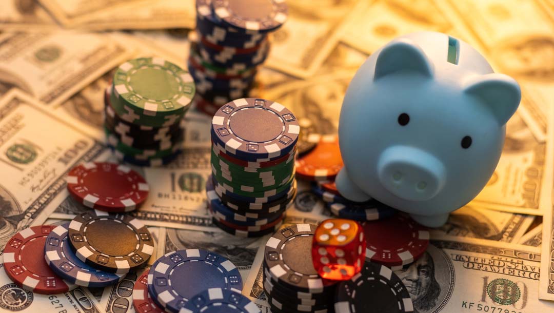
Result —
POLYGON ((366 202, 331 203, 331 212, 340 218, 353 219, 359 222, 392 217, 397 210, 371 199, 366 202))

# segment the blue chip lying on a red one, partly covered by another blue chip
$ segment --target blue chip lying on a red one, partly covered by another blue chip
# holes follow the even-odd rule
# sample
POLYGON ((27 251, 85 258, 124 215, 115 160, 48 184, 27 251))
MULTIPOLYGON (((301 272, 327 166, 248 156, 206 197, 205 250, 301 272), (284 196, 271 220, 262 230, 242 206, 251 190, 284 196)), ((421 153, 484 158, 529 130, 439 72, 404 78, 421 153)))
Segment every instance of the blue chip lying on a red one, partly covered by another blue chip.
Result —
POLYGON ((179 313, 186 302, 194 301, 197 293, 210 288, 240 293, 242 279, 231 261, 206 250, 167 253, 148 272, 148 291, 167 312, 179 313))

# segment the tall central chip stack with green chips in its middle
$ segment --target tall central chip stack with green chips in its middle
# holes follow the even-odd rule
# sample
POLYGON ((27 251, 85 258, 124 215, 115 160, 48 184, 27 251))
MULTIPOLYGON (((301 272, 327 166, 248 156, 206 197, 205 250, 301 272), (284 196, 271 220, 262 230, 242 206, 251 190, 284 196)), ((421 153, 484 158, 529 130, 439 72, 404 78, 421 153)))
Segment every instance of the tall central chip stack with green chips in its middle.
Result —
POLYGON ((216 112, 211 132, 213 223, 242 237, 275 232, 296 194, 294 114, 277 102, 237 99, 216 112))

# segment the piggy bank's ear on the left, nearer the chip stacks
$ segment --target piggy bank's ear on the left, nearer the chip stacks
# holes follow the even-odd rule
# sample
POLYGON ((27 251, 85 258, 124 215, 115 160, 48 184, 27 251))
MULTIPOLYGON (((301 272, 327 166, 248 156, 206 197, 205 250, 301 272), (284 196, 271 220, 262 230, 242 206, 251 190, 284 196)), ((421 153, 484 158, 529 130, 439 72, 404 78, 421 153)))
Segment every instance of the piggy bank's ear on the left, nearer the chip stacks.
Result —
POLYGON ((397 71, 415 71, 433 76, 433 65, 419 46, 407 38, 387 44, 377 56, 375 80, 397 71))

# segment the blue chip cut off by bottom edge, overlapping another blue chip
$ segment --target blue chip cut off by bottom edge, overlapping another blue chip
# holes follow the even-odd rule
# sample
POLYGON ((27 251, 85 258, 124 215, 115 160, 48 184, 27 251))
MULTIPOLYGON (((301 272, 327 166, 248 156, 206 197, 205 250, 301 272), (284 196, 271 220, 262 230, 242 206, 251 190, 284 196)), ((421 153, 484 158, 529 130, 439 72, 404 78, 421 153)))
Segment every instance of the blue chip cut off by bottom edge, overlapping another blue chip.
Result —
POLYGON ((181 309, 181 313, 260 313, 248 297, 233 290, 209 288, 194 295, 181 309))

